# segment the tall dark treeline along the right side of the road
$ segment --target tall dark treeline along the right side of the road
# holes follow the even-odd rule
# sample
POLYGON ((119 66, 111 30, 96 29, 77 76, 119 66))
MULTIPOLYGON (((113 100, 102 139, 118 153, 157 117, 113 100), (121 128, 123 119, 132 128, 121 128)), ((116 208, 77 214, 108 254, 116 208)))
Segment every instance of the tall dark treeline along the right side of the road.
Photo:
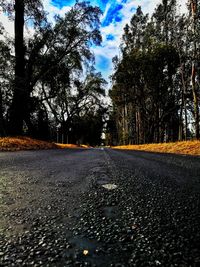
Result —
POLYGON ((162 0, 151 17, 138 7, 115 57, 108 144, 200 137, 200 4, 162 0))

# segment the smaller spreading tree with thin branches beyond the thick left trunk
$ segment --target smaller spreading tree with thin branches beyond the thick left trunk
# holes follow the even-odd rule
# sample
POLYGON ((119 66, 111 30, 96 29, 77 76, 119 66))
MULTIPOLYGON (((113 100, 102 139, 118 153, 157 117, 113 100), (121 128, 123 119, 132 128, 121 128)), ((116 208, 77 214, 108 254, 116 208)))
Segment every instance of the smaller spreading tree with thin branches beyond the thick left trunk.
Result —
MULTIPOLYGON (((78 77, 71 81, 69 73, 66 75, 67 71, 62 65, 57 76, 54 76, 54 81, 50 79, 42 84, 40 94, 46 108, 51 110, 56 124, 60 125, 62 141, 65 142, 69 140, 74 118, 76 122, 81 122, 83 117, 90 118, 88 114, 95 114, 101 108, 105 84, 100 73, 89 73, 83 81, 78 80, 78 77)), ((79 135, 77 138, 80 139, 79 135)))

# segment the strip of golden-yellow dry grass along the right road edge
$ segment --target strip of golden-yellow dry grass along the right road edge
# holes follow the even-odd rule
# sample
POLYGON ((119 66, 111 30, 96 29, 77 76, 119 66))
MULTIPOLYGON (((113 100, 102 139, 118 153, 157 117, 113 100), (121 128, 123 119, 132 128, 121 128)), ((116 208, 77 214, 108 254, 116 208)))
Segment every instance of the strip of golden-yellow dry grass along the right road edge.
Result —
POLYGON ((160 143, 160 144, 146 144, 146 145, 127 145, 127 146, 116 146, 113 148, 200 156, 200 141, 184 141, 176 143, 160 143))

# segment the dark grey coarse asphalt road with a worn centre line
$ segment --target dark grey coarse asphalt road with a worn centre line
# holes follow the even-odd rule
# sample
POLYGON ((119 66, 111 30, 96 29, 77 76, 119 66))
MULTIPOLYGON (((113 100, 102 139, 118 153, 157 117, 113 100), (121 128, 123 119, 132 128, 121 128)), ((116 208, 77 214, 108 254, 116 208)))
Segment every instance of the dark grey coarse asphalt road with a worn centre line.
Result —
POLYGON ((200 266, 200 158, 0 153, 0 266, 200 266))

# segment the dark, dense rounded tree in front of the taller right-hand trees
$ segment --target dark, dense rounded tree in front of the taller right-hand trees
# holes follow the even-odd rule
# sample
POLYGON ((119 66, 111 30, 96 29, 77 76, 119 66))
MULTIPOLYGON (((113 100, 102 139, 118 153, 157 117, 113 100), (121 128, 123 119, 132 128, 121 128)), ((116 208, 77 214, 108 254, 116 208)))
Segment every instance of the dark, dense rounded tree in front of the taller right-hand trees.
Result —
POLYGON ((133 51, 122 59, 110 93, 122 143, 160 142, 164 135, 169 140, 175 138, 175 131, 170 133, 170 129, 177 118, 178 99, 169 91, 173 85, 165 70, 168 67, 175 74, 178 63, 177 52, 166 45, 156 45, 148 52, 133 51), (127 114, 123 113, 124 106, 127 114))

